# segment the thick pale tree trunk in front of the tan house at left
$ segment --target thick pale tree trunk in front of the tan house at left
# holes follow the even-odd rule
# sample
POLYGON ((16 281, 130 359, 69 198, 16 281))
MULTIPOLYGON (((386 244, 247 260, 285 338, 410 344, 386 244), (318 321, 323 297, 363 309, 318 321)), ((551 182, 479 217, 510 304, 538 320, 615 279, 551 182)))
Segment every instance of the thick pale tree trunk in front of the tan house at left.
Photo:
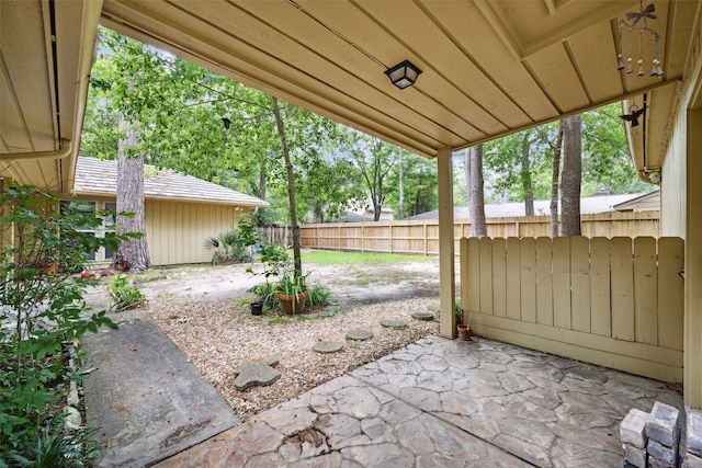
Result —
POLYGON ((129 148, 136 147, 137 133, 124 115, 120 116, 120 125, 125 129, 125 137, 117 145, 117 233, 143 232, 144 236, 122 242, 110 267, 141 273, 151 266, 144 216, 144 155, 128 156, 129 148), (123 212, 134 213, 134 217, 121 216, 123 212))

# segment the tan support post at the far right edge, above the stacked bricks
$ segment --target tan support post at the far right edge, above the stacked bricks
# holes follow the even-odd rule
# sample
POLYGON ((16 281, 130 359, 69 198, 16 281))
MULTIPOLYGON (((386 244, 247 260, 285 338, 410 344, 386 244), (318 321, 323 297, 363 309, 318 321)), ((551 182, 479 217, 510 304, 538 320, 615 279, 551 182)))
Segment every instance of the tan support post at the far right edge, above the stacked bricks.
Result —
MULTIPOLYGON (((702 98, 699 99, 702 101, 702 98)), ((702 408, 702 103, 688 113, 684 241, 684 403, 702 408)))

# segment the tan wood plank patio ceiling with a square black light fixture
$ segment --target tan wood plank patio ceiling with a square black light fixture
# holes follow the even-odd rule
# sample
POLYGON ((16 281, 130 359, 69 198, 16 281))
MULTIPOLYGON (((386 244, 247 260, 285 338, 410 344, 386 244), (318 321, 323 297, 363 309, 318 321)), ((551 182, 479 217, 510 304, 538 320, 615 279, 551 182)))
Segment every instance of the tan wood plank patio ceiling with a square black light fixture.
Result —
POLYGON ((695 0, 654 4, 663 77, 616 70, 636 0, 105 0, 101 23, 428 157, 647 92, 650 151, 700 14, 695 0), (384 71, 405 59, 422 73, 400 91, 384 71))

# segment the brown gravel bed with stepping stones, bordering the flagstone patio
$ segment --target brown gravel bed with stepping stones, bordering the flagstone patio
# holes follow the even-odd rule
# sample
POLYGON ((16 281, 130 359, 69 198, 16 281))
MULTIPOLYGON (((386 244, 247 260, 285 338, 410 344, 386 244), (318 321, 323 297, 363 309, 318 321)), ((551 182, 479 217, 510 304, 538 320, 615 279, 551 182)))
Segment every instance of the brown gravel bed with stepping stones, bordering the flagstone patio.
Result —
MULTIPOLYGON (((161 329, 188 355, 235 412, 247 420, 253 414, 287 401, 306 390, 377 359, 428 334, 438 333, 438 321, 410 317, 414 312, 435 312, 439 298, 359 305, 324 313, 298 317, 261 317, 249 312, 241 300, 154 300, 148 311, 161 329), (401 319, 401 330, 381 326, 381 320, 401 319), (352 329, 373 332, 366 341, 346 340, 352 329), (318 341, 346 342, 339 353, 313 351, 318 341), (281 378, 268 387, 238 391, 235 370, 245 359, 276 356, 281 378)), ((331 308, 333 310, 333 308, 331 308)))

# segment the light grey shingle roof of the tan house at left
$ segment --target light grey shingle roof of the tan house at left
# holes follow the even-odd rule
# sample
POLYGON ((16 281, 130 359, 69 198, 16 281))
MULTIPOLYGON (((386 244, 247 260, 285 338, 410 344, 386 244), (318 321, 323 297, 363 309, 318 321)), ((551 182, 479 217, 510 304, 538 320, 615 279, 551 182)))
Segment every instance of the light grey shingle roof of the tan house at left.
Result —
MULTIPOLYGON (((269 206, 256 196, 170 170, 158 170, 154 165, 144 168, 144 195, 146 198, 182 199, 190 202, 220 203, 225 205, 265 208, 269 206)), ((117 161, 101 161, 81 156, 76 164, 77 195, 116 196, 117 161)))

